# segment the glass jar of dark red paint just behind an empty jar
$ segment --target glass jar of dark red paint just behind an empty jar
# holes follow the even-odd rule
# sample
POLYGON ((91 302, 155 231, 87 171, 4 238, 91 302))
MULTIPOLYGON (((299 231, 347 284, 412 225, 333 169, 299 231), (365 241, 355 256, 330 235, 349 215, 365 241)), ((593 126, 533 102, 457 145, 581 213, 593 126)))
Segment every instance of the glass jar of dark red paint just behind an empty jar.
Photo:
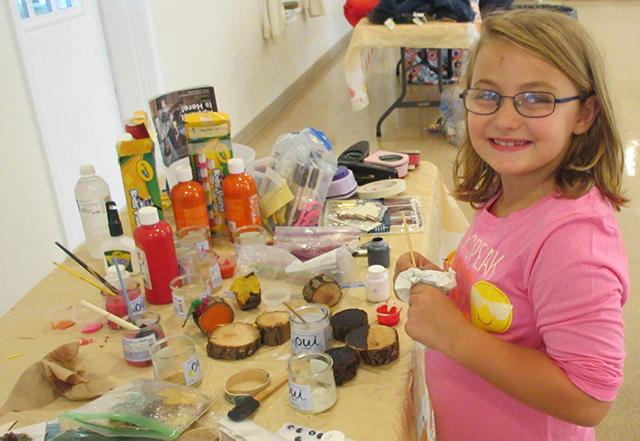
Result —
POLYGON ((133 316, 132 323, 140 328, 138 331, 126 331, 122 337, 124 359, 131 366, 151 366, 149 349, 158 340, 164 338, 160 325, 160 316, 155 312, 145 311, 133 316))

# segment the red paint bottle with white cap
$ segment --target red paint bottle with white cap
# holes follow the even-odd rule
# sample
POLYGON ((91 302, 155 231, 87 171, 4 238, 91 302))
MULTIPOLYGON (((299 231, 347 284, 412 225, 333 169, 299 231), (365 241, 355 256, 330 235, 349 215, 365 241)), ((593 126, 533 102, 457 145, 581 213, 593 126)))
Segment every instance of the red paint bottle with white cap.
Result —
POLYGON ((140 225, 133 232, 133 238, 138 248, 147 302, 154 305, 171 303, 169 282, 178 275, 171 225, 160 220, 156 207, 141 208, 138 216, 140 225))

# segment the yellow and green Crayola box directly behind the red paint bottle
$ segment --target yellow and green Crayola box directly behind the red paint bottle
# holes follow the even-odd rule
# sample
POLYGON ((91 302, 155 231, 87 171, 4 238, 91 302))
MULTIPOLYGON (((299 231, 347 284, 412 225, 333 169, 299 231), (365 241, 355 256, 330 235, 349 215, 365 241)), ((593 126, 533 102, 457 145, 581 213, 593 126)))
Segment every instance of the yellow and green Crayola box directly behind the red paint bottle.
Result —
POLYGON ((122 140, 116 151, 133 232, 139 225, 137 213, 142 207, 155 206, 160 219, 163 218, 153 141, 150 138, 122 140))

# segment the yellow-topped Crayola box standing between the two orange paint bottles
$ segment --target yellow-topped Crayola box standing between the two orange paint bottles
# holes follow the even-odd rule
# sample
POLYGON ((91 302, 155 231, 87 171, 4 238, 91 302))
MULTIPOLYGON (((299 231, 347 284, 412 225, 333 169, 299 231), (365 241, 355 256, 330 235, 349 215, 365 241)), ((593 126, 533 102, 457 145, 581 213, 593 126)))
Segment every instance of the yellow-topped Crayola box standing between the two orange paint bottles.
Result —
POLYGON ((223 112, 194 112, 184 116, 193 175, 207 194, 211 233, 226 230, 222 180, 229 173, 231 122, 223 112))

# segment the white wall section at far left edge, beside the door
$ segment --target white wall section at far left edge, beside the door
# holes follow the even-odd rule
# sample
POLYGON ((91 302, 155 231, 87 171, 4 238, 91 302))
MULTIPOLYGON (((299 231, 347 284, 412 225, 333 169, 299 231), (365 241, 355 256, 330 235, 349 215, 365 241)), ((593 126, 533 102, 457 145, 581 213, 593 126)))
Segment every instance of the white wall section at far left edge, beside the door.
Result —
POLYGON ((0 4, 0 244, 4 314, 59 257, 64 240, 40 130, 24 79, 8 2, 0 4))

